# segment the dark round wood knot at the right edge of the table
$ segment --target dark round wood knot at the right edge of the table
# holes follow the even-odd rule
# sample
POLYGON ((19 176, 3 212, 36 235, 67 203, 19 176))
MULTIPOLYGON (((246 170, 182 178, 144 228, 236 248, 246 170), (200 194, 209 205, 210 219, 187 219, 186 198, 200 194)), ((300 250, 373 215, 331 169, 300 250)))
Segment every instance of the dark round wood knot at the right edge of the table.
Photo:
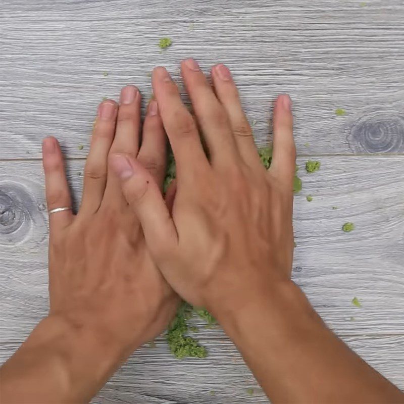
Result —
POLYGON ((350 126, 347 141, 354 153, 402 153, 404 116, 374 111, 350 126))

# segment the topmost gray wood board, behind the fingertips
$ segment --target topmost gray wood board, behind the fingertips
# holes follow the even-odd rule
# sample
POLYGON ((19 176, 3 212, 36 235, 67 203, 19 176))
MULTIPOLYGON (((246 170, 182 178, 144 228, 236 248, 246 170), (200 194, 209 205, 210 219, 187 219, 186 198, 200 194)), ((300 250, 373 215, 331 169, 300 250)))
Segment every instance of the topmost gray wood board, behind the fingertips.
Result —
POLYGON ((196 58, 226 63, 260 144, 271 102, 294 102, 300 154, 404 152, 401 0, 3 0, 0 159, 39 158, 45 135, 83 157, 96 105, 196 58), (173 45, 159 52, 159 38, 173 45), (107 71, 109 75, 103 76, 107 71), (346 110, 345 117, 335 115, 346 110), (305 143, 309 143, 305 147, 305 143))

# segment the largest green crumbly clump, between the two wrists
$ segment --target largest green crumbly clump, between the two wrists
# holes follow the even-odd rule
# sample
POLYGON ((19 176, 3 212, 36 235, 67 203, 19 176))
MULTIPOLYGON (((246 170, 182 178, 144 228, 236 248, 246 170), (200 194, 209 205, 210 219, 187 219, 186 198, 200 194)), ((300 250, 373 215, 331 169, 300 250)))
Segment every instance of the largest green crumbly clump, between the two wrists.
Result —
POLYGON ((174 320, 167 330, 167 342, 172 354, 182 359, 185 357, 206 358, 207 351, 198 341, 186 335, 188 332, 187 319, 192 312, 192 307, 186 302, 182 302, 177 310, 174 320))

